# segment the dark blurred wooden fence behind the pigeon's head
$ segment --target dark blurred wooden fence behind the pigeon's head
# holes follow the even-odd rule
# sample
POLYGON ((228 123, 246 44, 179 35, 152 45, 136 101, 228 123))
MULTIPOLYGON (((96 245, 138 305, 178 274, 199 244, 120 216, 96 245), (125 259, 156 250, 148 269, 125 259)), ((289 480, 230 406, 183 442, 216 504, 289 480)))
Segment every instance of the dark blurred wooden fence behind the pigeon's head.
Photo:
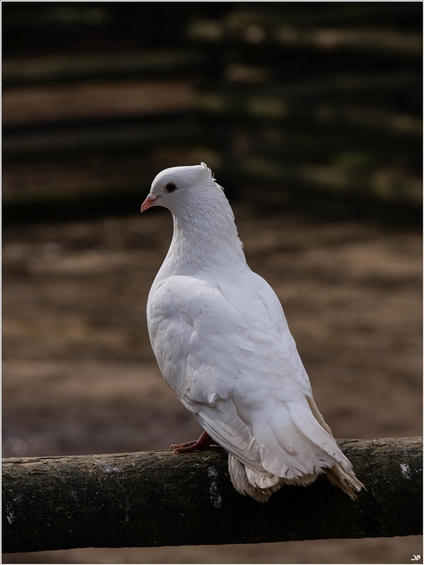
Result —
POLYGON ((272 206, 420 210, 420 3, 35 4, 3 6, 12 215, 136 209, 200 160, 272 206))

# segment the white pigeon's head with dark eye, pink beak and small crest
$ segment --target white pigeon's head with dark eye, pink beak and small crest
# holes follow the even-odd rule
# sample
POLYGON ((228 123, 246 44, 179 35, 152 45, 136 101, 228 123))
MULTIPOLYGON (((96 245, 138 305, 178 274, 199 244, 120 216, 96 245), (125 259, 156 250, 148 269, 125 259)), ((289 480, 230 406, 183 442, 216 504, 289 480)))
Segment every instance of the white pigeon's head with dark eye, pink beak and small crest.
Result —
POLYGON ((202 191, 219 189, 212 171, 205 163, 191 167, 171 167, 159 172, 152 182, 150 193, 141 206, 144 212, 152 206, 164 206, 175 212, 181 206, 189 205, 202 191))

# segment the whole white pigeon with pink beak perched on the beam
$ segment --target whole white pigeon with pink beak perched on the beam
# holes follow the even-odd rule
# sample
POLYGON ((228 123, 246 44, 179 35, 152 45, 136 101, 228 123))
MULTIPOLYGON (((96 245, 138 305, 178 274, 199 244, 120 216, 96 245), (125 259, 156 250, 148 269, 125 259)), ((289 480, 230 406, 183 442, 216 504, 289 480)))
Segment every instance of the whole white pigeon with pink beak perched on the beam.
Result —
POLYGON ((141 211, 152 206, 171 210, 174 236, 147 299, 150 341, 205 429, 174 453, 222 446, 236 490, 261 502, 322 472, 355 499, 363 484, 317 409, 277 295, 246 263, 211 170, 160 172, 141 211))

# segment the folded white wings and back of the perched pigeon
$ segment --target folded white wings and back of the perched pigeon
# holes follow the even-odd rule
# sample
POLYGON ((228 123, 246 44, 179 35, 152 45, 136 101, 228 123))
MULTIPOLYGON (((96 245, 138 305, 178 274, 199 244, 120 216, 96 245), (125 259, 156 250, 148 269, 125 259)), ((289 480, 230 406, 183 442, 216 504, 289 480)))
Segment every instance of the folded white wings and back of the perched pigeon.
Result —
POLYGON ((147 319, 166 382, 248 468, 293 480, 346 464, 310 409, 281 304, 259 275, 246 270, 238 286, 171 276, 152 287, 147 319))

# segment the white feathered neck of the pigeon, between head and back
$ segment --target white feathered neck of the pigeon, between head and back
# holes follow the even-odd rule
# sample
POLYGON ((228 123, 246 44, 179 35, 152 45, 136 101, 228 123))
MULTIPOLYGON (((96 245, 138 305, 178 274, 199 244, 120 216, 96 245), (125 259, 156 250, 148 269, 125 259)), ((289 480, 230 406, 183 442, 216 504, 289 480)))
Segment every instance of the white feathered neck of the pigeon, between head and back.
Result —
POLYGON ((173 217, 174 235, 162 266, 166 270, 163 275, 246 267, 234 215, 225 197, 215 206, 193 206, 184 214, 173 213, 173 217))

